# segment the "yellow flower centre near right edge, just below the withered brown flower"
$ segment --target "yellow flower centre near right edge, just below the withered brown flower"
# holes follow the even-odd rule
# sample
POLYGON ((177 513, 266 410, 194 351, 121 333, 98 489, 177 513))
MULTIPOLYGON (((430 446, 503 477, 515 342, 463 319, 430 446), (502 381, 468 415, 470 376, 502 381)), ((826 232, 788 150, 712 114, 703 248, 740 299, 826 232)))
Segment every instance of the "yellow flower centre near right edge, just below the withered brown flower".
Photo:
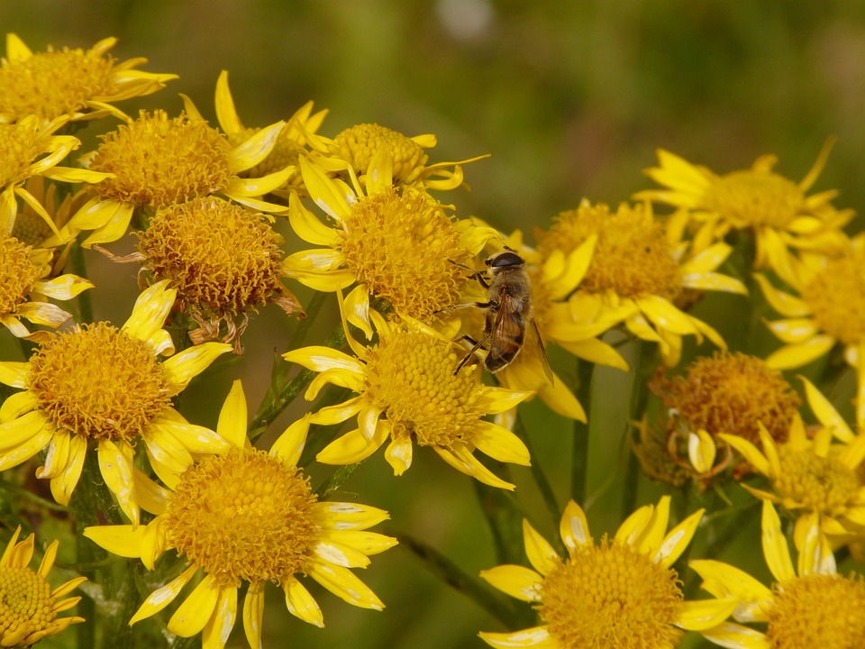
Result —
POLYGON ((781 471, 774 486, 780 495, 828 516, 842 514, 858 498, 856 472, 834 455, 820 457, 812 449, 794 451, 781 445, 778 458, 781 471))

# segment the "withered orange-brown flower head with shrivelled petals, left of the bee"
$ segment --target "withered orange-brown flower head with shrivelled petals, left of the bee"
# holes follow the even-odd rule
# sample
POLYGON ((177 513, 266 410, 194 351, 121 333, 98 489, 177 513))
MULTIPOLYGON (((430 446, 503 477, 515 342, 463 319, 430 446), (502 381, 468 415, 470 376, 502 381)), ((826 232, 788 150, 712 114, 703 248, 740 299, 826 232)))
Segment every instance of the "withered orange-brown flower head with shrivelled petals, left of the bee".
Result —
POLYGON ((274 303, 287 315, 303 315, 280 281, 282 238, 264 215, 222 198, 198 198, 160 208, 136 234, 139 251, 123 261, 141 261, 150 278, 170 280, 178 291, 175 308, 198 324, 189 333, 193 343, 219 337, 224 323, 222 342, 233 341, 241 353, 250 311, 274 303))

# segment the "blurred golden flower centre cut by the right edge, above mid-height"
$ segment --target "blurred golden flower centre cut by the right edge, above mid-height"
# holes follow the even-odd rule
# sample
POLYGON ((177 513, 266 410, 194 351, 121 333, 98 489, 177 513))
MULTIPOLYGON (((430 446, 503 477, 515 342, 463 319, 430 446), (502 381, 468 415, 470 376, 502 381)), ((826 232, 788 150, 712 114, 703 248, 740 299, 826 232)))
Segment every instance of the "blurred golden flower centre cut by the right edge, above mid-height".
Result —
POLYGON ((802 291, 817 326, 845 345, 865 341, 865 253, 829 261, 802 291))

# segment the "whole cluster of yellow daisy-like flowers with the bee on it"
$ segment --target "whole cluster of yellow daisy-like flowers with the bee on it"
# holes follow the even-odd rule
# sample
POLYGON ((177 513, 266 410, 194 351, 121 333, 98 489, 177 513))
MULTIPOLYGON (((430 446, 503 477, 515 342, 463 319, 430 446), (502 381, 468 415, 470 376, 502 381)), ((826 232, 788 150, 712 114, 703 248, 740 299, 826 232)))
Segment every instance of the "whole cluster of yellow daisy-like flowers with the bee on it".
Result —
POLYGON ((321 589, 381 610, 356 571, 398 539, 497 618, 479 632, 494 647, 865 646, 865 585, 839 571, 865 555, 865 238, 835 192, 809 193, 831 142, 798 183, 770 156, 721 175, 659 151, 660 187, 574 197, 529 244, 442 202, 485 155, 435 161, 432 134, 375 123, 331 137, 313 102, 244 126, 224 71, 216 124, 188 96, 179 114, 130 115, 115 104, 177 77, 114 44, 33 53, 10 34, 0 60, 0 334, 21 350, 0 360, 0 477, 35 492, 0 516, 21 523, 0 559, 0 644, 80 623, 81 643, 123 629, 121 644, 222 649, 242 627, 257 649, 268 582, 313 626, 321 589), (109 125, 73 160, 79 122, 109 125), (135 251, 112 251, 122 239, 135 251), (87 274, 96 254, 139 265, 121 325, 93 317, 112 290, 87 274), (269 305, 284 336, 250 420, 240 379, 221 407, 201 395, 208 375, 260 372, 241 356, 269 305), (769 309, 775 349, 752 335, 769 309), (596 540, 587 472, 619 379, 628 469, 596 540), (561 507, 533 450, 552 422, 572 429, 561 507), (403 521, 371 531, 386 509, 342 489, 378 455, 378 480, 407 481, 424 454, 478 495, 499 565, 466 573, 403 521), (541 507, 522 500, 533 489, 541 507), (77 546, 53 589, 58 542, 38 571, 35 535, 18 542, 38 525, 77 546), (739 533, 769 583, 727 552, 739 533), (79 586, 82 615, 58 617, 79 586))

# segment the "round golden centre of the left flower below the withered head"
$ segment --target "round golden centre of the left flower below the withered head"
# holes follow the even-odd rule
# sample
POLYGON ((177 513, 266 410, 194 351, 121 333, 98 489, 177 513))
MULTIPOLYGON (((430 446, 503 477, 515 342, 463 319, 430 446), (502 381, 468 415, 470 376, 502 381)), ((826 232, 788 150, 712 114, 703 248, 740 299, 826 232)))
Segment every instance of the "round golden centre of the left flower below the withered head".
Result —
POLYGON ((113 441, 134 441, 172 396, 147 344, 108 323, 53 336, 33 354, 28 381, 54 425, 113 441))

